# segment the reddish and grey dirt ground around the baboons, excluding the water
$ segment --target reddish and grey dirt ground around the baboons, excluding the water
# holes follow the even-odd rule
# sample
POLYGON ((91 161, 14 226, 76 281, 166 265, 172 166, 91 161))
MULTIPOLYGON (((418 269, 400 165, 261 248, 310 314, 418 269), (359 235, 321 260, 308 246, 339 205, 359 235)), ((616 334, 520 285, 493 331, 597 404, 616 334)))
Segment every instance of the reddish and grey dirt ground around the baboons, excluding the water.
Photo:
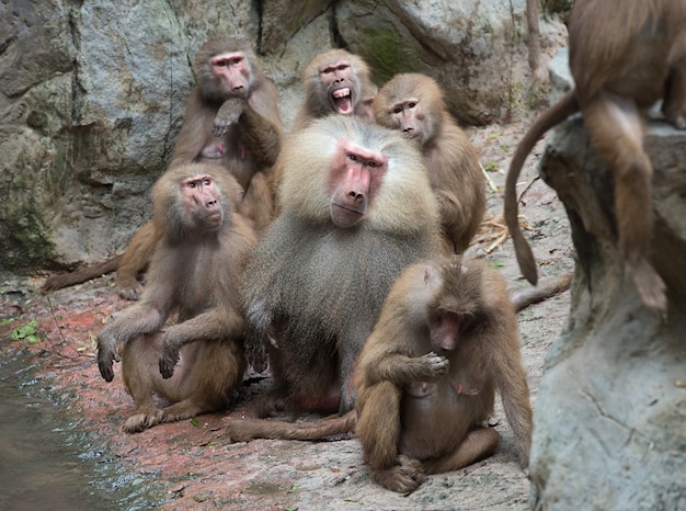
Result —
MULTIPOLYGON (((519 125, 470 129, 481 151, 481 162, 496 186, 489 190, 488 219, 502 214, 502 186, 510 159, 522 137, 519 125)), ((527 161, 521 182, 536 177, 542 143, 527 161)), ((524 184, 523 184, 524 186, 524 184)), ((554 192, 535 180, 521 208, 542 279, 573 270, 573 249, 567 216, 554 192)), ((484 223, 480 241, 468 254, 485 257, 507 279, 513 289, 528 284, 519 276, 512 243, 498 243, 499 222, 484 223), (494 226, 492 229, 487 228, 494 226), (490 253, 487 253, 494 246, 490 253)), ((227 413, 250 412, 251 399, 268 381, 250 375, 230 411, 203 415, 197 422, 163 424, 139 434, 126 434, 122 424, 133 410, 119 367, 105 383, 95 362, 94 339, 105 318, 128 304, 113 285, 113 275, 42 295, 43 279, 3 275, 0 281, 2 351, 28 350, 39 362, 42 377, 54 378, 67 412, 79 428, 93 433, 102 450, 122 468, 163 488, 163 509, 528 509, 529 482, 512 450, 512 433, 502 408, 494 413, 501 445, 494 456, 465 469, 431 476, 413 493, 400 496, 377 486, 362 463, 357 442, 282 442, 258 440, 229 443, 220 420, 227 413), (37 320, 39 342, 10 340, 10 332, 37 320), (65 396, 67 396, 65 398, 65 396)), ((544 359, 564 327, 569 292, 534 305, 519 314, 525 365, 536 404, 544 359)))

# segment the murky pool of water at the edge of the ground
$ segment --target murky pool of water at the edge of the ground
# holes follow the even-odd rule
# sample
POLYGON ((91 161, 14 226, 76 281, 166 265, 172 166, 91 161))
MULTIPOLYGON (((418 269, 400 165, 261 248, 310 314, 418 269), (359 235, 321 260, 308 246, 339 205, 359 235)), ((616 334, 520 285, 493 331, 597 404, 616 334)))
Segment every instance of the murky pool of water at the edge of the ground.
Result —
POLYGON ((0 352, 0 510, 144 510, 163 502, 161 485, 118 467, 28 364, 0 352))

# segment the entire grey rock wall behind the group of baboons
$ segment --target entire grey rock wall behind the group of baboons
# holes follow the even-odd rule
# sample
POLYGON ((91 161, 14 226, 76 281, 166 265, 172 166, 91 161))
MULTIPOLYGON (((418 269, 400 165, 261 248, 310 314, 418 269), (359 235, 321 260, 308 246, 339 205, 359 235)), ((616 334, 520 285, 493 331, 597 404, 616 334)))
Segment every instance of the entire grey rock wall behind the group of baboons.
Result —
MULTIPOLYGON (((540 104, 526 59, 525 0, 0 1, 0 270, 57 270, 121 251, 148 218, 213 34, 254 42, 286 126, 300 69, 343 46, 382 84, 421 71, 464 123, 540 104), (294 7, 295 5, 295 7, 294 7)), ((544 50, 565 42, 542 22, 544 50)))

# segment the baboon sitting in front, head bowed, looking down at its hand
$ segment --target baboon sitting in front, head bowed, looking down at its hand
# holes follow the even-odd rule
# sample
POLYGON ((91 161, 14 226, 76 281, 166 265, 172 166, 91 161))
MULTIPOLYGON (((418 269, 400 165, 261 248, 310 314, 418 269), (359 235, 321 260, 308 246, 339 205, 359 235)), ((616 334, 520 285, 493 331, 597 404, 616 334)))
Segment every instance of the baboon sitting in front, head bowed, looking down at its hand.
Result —
POLYGON ((354 428, 374 479, 407 492, 425 474, 493 453, 500 435, 484 423, 498 390, 527 467, 531 408, 519 350, 515 310, 496 271, 458 256, 413 264, 391 287, 359 355, 355 411, 310 424, 225 424, 235 441, 313 440, 354 428))

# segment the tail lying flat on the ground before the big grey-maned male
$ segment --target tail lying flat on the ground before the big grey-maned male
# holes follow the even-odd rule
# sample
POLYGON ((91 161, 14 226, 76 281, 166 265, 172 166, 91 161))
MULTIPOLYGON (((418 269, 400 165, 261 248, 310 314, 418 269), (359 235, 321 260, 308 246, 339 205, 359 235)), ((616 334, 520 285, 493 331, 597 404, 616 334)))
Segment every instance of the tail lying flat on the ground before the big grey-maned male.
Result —
POLYGON ((248 442, 252 439, 272 440, 321 440, 355 430, 355 410, 344 416, 329 416, 315 422, 283 422, 267 419, 222 420, 228 435, 233 442, 248 442))

